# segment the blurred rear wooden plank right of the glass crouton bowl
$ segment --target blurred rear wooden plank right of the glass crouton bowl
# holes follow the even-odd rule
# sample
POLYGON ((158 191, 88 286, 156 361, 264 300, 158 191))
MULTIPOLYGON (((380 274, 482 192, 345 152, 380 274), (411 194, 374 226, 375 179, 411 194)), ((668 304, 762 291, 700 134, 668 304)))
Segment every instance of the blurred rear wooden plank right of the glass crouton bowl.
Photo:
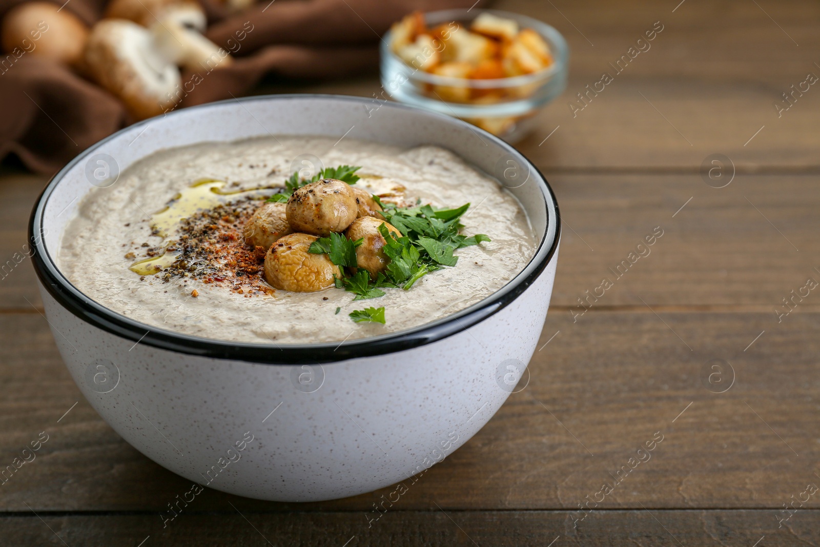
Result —
POLYGON ((809 73, 820 76, 817 2, 503 0, 494 7, 548 22, 572 50, 567 92, 540 116, 542 130, 522 144, 540 165, 696 171, 704 157, 723 153, 752 171, 817 171, 820 91, 804 85, 809 91, 792 96, 786 112, 773 106, 809 73), (610 63, 655 21, 663 31, 618 73, 610 63), (573 114, 568 104, 576 93, 604 72, 614 81, 573 114), (537 148, 558 125, 549 144, 537 148))

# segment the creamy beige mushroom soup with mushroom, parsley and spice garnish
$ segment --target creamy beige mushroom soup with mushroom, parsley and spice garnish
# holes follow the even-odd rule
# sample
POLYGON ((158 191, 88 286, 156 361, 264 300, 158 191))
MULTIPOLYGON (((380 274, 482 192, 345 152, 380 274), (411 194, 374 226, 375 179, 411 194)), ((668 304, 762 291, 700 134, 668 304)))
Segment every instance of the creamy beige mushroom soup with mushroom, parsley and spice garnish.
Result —
POLYGON ((512 280, 536 244, 512 194, 443 148, 280 136, 135 162, 84 196, 58 265, 150 326, 310 344, 458 312, 512 280))

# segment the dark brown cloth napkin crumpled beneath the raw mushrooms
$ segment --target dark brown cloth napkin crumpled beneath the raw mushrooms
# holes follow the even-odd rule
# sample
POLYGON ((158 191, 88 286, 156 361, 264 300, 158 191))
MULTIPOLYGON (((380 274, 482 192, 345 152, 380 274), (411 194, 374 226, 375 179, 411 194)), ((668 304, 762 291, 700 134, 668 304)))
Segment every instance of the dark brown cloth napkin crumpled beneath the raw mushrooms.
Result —
MULTIPOLYGON (((0 18, 19 3, 0 0, 0 18)), ((207 37, 235 62, 184 74, 178 107, 239 97, 267 73, 327 80, 371 71, 380 36, 394 21, 414 10, 470 7, 473 0, 260 0, 230 15, 217 0, 201 3, 207 37)), ((104 4, 70 0, 63 6, 93 25, 104 4)), ((57 62, 24 54, 0 72, 0 159, 14 153, 30 169, 52 174, 133 121, 111 93, 57 62)))

